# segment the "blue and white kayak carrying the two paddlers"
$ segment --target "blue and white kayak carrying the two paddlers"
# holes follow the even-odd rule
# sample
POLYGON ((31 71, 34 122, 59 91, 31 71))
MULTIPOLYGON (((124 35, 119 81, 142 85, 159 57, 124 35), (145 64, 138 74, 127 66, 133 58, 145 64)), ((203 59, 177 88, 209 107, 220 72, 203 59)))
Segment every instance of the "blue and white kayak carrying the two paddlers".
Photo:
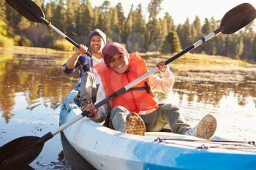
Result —
MULTIPOLYGON (((72 90, 60 125, 80 115, 72 90)), ((167 132, 124 134, 87 117, 64 130, 72 147, 96 169, 256 169, 254 142, 212 141, 167 132)))

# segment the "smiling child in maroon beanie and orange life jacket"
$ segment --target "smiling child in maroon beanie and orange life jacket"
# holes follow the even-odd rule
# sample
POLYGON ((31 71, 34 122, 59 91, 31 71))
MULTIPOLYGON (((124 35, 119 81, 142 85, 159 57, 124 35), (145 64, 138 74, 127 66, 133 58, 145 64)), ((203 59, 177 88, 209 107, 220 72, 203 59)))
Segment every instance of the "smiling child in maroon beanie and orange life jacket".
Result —
MULTIPOLYGON (((104 63, 94 66, 102 80, 96 103, 147 72, 146 63, 138 53, 128 54, 127 50, 116 42, 105 45, 102 55, 104 63)), ((132 91, 118 95, 98 109, 95 109, 94 104, 89 104, 86 107, 89 117, 101 122, 109 115, 110 126, 129 134, 144 135, 145 131, 160 131, 168 124, 176 134, 211 138, 217 128, 217 121, 212 115, 206 115, 195 128, 191 128, 178 107, 173 104, 161 107, 157 105, 151 91, 169 93, 174 84, 174 76, 169 66, 163 61, 157 63, 157 66, 162 78, 151 75, 135 85, 132 91)))

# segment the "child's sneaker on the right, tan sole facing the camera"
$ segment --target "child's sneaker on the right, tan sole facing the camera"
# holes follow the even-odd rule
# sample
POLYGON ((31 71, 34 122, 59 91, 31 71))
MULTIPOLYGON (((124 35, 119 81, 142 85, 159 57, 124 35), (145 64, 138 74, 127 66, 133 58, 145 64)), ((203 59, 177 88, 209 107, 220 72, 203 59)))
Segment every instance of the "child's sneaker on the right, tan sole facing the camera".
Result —
POLYGON ((195 128, 189 128, 184 134, 196 136, 203 139, 210 139, 217 128, 217 120, 212 115, 206 115, 195 128))

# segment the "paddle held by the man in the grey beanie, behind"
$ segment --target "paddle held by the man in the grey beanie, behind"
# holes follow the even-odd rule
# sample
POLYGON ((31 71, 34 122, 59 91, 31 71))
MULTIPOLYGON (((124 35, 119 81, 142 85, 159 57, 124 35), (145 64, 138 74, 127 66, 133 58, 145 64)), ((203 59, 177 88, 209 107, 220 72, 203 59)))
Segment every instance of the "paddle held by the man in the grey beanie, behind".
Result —
MULTIPOLYGON (((34 3, 34 1, 31 0, 6 0, 10 6, 15 9, 17 12, 20 13, 20 15, 23 15, 26 19, 35 22, 35 23, 45 23, 46 26, 49 26, 53 29, 57 34, 67 39, 67 41, 71 42, 72 45, 79 48, 78 43, 76 43, 74 40, 69 38, 69 36, 65 35, 61 31, 59 31, 58 28, 53 26, 48 20, 45 19, 45 14, 42 11, 40 7, 37 6, 37 4, 34 3)), ((95 58, 90 53, 86 52, 86 55, 93 58, 95 61, 99 61, 98 58, 95 58)))

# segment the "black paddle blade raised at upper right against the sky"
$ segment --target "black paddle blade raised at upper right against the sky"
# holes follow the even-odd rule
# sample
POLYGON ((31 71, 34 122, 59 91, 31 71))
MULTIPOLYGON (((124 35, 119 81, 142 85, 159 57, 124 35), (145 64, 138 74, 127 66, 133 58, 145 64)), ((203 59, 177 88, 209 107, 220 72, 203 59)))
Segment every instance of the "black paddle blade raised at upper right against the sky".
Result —
POLYGON ((220 28, 223 34, 233 34, 255 18, 256 10, 251 4, 239 4, 224 15, 220 28))

